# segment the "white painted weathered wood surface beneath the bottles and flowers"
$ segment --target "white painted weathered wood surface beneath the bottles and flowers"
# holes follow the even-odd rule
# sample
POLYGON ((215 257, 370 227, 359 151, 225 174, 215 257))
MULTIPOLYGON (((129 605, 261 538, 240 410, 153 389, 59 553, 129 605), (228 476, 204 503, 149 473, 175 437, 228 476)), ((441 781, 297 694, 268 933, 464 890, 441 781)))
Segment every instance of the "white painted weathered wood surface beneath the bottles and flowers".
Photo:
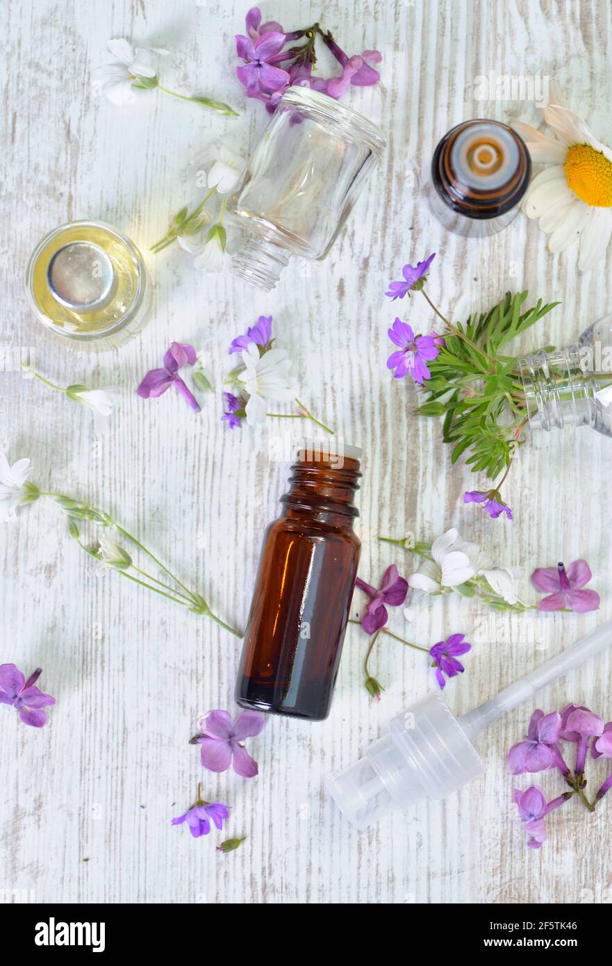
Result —
MULTIPOLYGON (((431 296, 459 316, 497 300, 507 287, 563 305, 526 337, 563 343, 609 310, 610 257, 586 277, 573 252, 552 256, 522 216, 501 235, 464 241, 445 233, 426 202, 438 138, 465 118, 520 117, 533 104, 477 102, 475 78, 556 76, 598 136, 612 140, 612 14, 594 3, 385 3, 324 5, 289 0, 264 6, 287 29, 320 16, 352 53, 376 47, 382 83, 355 89, 348 103, 388 133, 381 168, 324 264, 292 264, 271 295, 192 270, 180 251, 150 260, 153 319, 118 355, 68 350, 37 323, 22 289, 28 255, 47 230, 99 217, 142 248, 166 230, 189 197, 186 162, 210 138, 227 135, 243 151, 264 128, 263 106, 246 101, 235 77, 233 38, 247 3, 98 0, 4 5, 2 155, 3 346, 33 346, 42 372, 63 384, 121 384, 112 430, 95 445, 88 414, 41 384, 4 373, 0 443, 28 455, 34 479, 110 510, 196 585, 226 619, 243 625, 264 526, 277 512, 287 468, 267 458, 268 435, 228 432, 219 396, 194 417, 177 394, 143 402, 134 388, 173 339, 209 360, 217 387, 229 341, 260 313, 274 316, 279 344, 299 371, 304 401, 348 441, 365 449, 359 495, 361 574, 376 582, 396 560, 377 534, 431 537, 458 525, 495 562, 549 565, 584 555, 602 598, 598 614, 510 621, 460 605, 418 608, 412 627, 394 627, 430 645, 463 631, 474 643, 466 673, 448 688, 463 711, 533 668, 608 616, 612 593, 607 520, 612 448, 586 430, 542 434, 524 446, 505 495, 515 521, 488 520, 463 507, 475 480, 451 469, 440 426, 412 414, 413 390, 392 384, 386 329, 397 314, 431 320, 416 298, 393 306, 382 293, 403 263, 436 251, 431 296), (227 100, 224 119, 151 93, 115 108, 90 93, 90 71, 107 38, 168 46, 167 86, 227 100)), ((517 347, 519 348, 519 347, 517 347)), ((294 428, 297 431, 298 424, 294 428)), ((267 433, 278 431, 270 424, 267 433)), ((285 427, 283 427, 285 428, 285 427)), ((270 719, 250 743, 260 763, 253 781, 203 772, 187 744, 200 714, 232 707, 239 643, 207 620, 183 613, 117 575, 99 580, 65 534, 48 501, 19 513, 0 544, 1 661, 57 698, 50 725, 36 731, 0 708, 0 889, 36 891, 41 902, 580 902, 612 897, 610 809, 590 817, 577 805, 549 821, 541 853, 527 850, 510 800, 515 781, 504 756, 531 709, 515 712, 481 740, 487 776, 444 804, 396 814, 367 833, 352 830, 322 790, 404 703, 433 687, 416 652, 393 641, 373 669, 379 703, 362 686, 366 639, 350 628, 331 717, 322 725, 270 719), (99 632, 99 634, 97 633, 99 632), (248 836, 224 856, 226 836, 191 840, 170 819, 204 782, 209 799, 233 808, 228 836, 248 836), (88 860, 88 861, 86 861, 88 860), (607 891, 607 892, 606 892, 607 891)), ((525 584, 525 596, 531 591, 525 584)), ((533 597, 535 598, 535 595, 533 597)), ((361 595, 355 603, 361 605, 361 595)), ((584 668, 542 696, 612 717, 612 657, 584 668)), ((519 781, 526 787, 526 781, 519 781)), ((551 793, 560 789, 543 778, 551 793)), ((552 796, 551 796, 552 797, 552 796)))

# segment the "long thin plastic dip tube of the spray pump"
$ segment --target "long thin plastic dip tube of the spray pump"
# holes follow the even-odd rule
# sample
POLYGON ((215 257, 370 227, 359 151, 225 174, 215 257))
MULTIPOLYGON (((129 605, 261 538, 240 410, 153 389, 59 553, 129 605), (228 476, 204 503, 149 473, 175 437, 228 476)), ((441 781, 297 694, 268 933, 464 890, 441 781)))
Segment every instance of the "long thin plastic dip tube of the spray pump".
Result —
POLYGON ((599 651, 612 643, 612 620, 607 620, 601 627, 596 628, 585 638, 576 640, 575 644, 558 654, 549 661, 545 661, 540 668, 529 671, 520 680, 515 681, 509 688, 500 691, 496 697, 480 704, 473 711, 459 718, 459 725, 468 738, 478 734, 484 727, 497 721, 506 711, 512 711, 518 704, 529 700, 541 688, 552 684, 557 678, 563 677, 573 668, 579 667, 585 661, 595 657, 599 651))

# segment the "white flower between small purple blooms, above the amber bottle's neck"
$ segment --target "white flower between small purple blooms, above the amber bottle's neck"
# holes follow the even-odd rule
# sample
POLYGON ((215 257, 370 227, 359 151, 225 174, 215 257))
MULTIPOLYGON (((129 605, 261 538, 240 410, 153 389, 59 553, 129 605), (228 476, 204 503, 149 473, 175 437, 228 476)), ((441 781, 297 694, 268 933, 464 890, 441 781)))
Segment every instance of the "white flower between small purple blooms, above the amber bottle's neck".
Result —
POLYGON ((260 355, 259 346, 251 342, 242 352, 242 361, 245 369, 237 378, 249 393, 246 421, 249 426, 256 426, 264 422, 266 400, 286 403, 294 398, 292 360, 284 349, 268 349, 260 355))

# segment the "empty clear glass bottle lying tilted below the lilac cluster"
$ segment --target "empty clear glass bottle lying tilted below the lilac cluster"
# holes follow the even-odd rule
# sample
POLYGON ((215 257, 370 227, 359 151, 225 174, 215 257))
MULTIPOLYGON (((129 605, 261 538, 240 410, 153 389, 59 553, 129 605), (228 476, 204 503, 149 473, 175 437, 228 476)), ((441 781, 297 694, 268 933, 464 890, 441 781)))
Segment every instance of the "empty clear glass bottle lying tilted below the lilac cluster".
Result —
POLYGON ((234 274, 269 292, 292 255, 324 258, 385 144, 346 104, 290 87, 228 206, 245 233, 234 274))

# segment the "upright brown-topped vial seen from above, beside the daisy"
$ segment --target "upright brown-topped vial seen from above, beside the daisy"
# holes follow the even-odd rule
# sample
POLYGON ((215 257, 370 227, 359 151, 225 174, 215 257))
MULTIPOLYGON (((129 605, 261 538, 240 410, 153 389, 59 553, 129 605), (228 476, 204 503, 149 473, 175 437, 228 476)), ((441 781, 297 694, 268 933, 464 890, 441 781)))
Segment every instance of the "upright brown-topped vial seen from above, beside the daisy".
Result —
POLYGON ((531 158, 515 130, 465 121, 433 153, 431 210, 456 235, 495 235, 515 218, 530 178, 531 158))

